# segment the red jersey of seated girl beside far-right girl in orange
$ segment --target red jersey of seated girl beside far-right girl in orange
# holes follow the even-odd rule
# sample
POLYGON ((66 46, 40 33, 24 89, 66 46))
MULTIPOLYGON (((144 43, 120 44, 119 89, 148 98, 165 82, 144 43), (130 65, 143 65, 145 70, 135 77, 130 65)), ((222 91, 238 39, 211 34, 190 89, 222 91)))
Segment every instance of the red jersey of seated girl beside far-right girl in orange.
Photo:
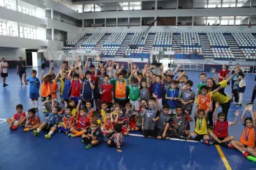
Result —
POLYGON ((231 125, 230 122, 227 122, 227 121, 220 122, 219 120, 216 120, 214 122, 214 134, 216 134, 221 138, 227 137, 228 136, 227 128, 229 125, 231 125))

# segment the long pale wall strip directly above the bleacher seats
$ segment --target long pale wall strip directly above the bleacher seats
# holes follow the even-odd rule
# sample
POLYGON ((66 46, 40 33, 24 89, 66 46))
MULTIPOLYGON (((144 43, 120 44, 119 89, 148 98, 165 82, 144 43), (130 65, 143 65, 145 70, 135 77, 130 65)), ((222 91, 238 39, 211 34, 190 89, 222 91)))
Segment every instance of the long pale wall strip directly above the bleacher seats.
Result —
MULTIPOLYGON (((256 26, 249 28, 248 26, 152 26, 150 31, 241 31, 241 32, 256 32, 256 26)), ((106 27, 106 28, 80 28, 80 32, 138 32, 148 31, 148 26, 131 26, 127 27, 106 27)))

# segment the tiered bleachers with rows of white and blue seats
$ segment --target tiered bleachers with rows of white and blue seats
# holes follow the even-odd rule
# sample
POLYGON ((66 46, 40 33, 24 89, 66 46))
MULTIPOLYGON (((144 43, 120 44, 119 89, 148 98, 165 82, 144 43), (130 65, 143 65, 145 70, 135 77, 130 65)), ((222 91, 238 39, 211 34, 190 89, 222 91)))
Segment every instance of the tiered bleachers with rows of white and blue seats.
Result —
POLYGON ((252 60, 256 55, 256 33, 80 33, 63 50, 97 50, 103 57, 136 57, 150 51, 174 51, 176 55, 185 57, 202 55, 214 60, 252 60))

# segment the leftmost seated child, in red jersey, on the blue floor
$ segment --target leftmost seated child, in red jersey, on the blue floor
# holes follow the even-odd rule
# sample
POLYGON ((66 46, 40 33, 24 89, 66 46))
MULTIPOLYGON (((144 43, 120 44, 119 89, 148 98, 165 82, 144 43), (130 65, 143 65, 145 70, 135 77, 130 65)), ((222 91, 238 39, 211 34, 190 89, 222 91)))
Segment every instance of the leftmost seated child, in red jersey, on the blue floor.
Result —
POLYGON ((26 123, 26 115, 25 112, 23 112, 23 105, 18 104, 16 106, 16 111, 15 115, 12 118, 7 119, 7 123, 10 125, 10 128, 12 130, 15 130, 18 128, 20 125, 25 125, 26 123))

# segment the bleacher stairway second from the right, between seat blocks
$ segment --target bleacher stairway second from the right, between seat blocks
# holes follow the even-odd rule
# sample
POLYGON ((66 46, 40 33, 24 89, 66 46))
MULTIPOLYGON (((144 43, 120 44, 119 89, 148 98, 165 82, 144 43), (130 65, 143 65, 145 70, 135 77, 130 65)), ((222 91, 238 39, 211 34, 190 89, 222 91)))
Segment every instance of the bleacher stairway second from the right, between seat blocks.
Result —
POLYGON ((200 39, 200 43, 201 43, 201 47, 203 50, 203 56, 207 59, 213 59, 213 54, 211 51, 211 47, 208 41, 208 36, 206 33, 198 33, 199 39, 200 39))

